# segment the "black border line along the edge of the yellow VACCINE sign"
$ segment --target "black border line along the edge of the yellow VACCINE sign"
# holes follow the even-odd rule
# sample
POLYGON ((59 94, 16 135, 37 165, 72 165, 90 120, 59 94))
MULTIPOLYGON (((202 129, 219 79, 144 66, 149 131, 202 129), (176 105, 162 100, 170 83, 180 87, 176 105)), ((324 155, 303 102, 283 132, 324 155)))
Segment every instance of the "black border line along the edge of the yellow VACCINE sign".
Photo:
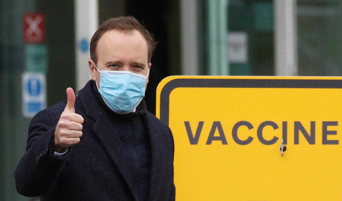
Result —
POLYGON ((172 90, 176 88, 342 89, 342 80, 189 78, 174 79, 166 83, 160 92, 160 120, 167 125, 169 125, 170 94, 172 90))

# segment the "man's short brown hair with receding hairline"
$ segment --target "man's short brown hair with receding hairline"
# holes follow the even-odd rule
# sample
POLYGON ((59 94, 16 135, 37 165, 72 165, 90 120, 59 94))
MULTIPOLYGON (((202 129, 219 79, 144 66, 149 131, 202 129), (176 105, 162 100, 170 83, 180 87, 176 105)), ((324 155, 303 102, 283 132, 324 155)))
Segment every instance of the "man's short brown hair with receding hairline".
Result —
POLYGON ((106 32, 113 29, 122 30, 122 31, 133 31, 137 30, 139 31, 147 42, 147 61, 151 61, 153 50, 155 49, 155 46, 157 42, 154 40, 154 37, 152 34, 148 32, 148 30, 137 21, 132 16, 128 17, 116 17, 116 18, 110 18, 106 22, 102 23, 100 27, 95 31, 95 34, 91 38, 90 41, 90 58, 94 61, 96 64, 97 62, 97 55, 96 55, 96 46, 98 40, 100 40, 101 36, 106 32))

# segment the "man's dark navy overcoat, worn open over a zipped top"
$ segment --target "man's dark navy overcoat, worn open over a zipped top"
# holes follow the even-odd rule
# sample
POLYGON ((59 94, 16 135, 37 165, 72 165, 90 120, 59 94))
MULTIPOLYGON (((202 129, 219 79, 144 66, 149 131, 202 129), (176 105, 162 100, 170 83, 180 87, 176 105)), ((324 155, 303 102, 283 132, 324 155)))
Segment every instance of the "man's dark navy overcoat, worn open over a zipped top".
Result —
MULTIPOLYGON (((92 84, 89 81, 75 101, 76 113, 84 118, 83 136, 62 157, 54 155, 52 146, 66 102, 42 110, 32 119, 26 152, 14 174, 21 195, 42 196, 41 200, 137 200, 116 123, 92 84)), ((138 107, 144 105, 142 101, 138 107)), ((152 152, 148 200, 175 200, 172 133, 147 110, 143 121, 152 152)))

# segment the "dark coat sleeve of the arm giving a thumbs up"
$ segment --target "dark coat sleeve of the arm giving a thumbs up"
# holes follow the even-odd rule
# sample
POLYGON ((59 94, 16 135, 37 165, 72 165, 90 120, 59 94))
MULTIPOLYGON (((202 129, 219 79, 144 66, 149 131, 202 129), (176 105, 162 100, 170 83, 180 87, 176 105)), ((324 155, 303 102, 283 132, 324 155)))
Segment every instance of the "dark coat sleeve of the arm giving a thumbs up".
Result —
POLYGON ((31 120, 26 152, 14 172, 15 186, 23 196, 41 196, 52 190, 71 152, 57 157, 53 153, 55 126, 63 109, 45 109, 31 120))

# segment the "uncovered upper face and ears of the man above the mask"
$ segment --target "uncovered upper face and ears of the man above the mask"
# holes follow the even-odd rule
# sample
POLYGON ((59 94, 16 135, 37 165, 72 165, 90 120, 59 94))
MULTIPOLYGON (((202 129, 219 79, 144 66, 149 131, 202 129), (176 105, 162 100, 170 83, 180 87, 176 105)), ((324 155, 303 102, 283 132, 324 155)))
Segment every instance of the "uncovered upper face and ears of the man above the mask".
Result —
MULTIPOLYGON (((105 32, 97 42, 96 55, 95 65, 99 70, 124 70, 147 76, 151 67, 151 63, 147 62, 147 42, 137 30, 105 32)), ((88 64, 92 79, 100 86, 100 72, 95 70, 91 59, 88 64)))

